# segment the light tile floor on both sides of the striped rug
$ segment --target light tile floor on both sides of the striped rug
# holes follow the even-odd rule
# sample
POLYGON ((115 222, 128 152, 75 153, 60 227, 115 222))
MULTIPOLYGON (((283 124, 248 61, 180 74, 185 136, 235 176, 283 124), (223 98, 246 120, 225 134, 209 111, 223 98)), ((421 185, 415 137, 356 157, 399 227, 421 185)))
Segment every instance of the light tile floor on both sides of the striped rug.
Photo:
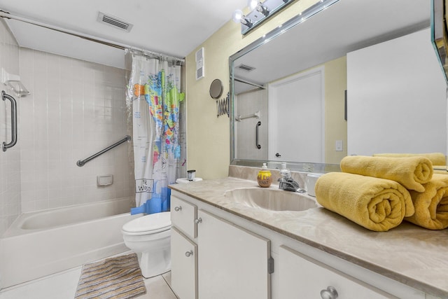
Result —
MULTIPOLYGON (((81 266, 0 291, 0 299, 73 299, 81 266)), ((178 299, 169 284, 171 272, 144 279, 146 294, 135 299, 178 299)))

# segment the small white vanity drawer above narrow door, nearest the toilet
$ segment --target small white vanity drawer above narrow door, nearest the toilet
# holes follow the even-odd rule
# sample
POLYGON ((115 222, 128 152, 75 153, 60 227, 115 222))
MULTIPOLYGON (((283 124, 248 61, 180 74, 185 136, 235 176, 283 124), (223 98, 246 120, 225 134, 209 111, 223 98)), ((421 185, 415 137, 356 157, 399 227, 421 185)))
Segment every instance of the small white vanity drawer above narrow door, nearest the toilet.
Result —
POLYGON ((188 237, 195 239, 197 236, 197 207, 178 197, 171 197, 171 222, 188 237))

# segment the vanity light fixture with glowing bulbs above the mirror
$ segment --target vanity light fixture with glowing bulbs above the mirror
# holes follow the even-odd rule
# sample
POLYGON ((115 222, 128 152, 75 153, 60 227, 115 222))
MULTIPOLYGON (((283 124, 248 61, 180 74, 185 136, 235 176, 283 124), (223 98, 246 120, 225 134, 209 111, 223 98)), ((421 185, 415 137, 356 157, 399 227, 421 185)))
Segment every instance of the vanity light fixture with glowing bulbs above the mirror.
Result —
POLYGON ((248 0, 247 7, 251 12, 244 15, 237 9, 233 13, 232 20, 241 23, 241 34, 244 35, 292 2, 292 0, 265 0, 264 2, 248 0))

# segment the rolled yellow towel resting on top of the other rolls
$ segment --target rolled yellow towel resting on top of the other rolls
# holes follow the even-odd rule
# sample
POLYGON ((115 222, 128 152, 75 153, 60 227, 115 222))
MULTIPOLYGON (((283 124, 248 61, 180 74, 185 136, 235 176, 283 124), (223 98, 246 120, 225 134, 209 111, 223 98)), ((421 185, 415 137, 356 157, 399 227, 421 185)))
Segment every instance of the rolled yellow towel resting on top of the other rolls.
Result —
POLYGON ((410 190, 423 192, 433 177, 433 165, 424 157, 388 158, 349 155, 341 161, 342 172, 397 181, 410 190))

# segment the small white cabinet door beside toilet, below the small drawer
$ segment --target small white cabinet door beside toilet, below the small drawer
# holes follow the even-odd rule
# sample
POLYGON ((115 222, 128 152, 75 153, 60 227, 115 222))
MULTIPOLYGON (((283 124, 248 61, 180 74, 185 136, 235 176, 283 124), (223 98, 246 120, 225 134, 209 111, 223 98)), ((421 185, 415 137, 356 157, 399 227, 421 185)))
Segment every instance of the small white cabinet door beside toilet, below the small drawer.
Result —
POLYGON ((197 245, 172 227, 171 284, 181 299, 197 299, 197 245))

